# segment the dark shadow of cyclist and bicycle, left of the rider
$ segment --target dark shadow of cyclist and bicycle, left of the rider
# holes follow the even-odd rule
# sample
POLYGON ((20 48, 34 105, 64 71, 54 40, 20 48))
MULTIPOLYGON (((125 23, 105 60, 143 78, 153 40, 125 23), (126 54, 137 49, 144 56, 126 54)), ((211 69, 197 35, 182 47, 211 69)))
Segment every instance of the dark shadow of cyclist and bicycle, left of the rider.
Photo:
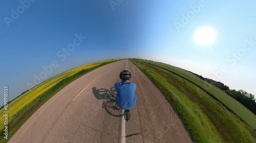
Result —
POLYGON ((110 90, 102 88, 97 90, 96 87, 93 87, 92 90, 95 98, 104 100, 102 108, 104 108, 109 115, 114 117, 123 116, 122 109, 120 109, 116 103, 115 87, 112 87, 110 90))

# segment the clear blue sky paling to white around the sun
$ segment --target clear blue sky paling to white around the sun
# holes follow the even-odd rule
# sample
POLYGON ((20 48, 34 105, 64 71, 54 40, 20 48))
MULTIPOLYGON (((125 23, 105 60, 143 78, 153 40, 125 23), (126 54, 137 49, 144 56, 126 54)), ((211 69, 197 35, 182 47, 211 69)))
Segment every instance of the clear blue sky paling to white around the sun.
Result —
POLYGON ((28 90, 27 83, 33 83, 34 75, 44 71, 42 66, 49 66, 54 60, 58 67, 46 79, 84 64, 138 56, 190 70, 221 81, 231 89, 255 95, 255 4, 255 1, 1 1, 1 86, 9 85, 9 96, 13 99, 28 90), (177 22, 183 26, 177 27, 177 22), (195 31, 203 26, 216 30, 214 43, 200 45, 193 39, 195 31), (62 48, 72 44, 75 35, 86 39, 76 41, 79 44, 68 55, 62 48), (248 50, 243 51, 246 39, 252 41, 252 46, 248 48, 247 44, 248 50), (234 60, 232 54, 238 52, 241 56, 234 60), (66 54, 66 59, 60 54, 66 54), (229 71, 221 71, 223 66, 229 71))

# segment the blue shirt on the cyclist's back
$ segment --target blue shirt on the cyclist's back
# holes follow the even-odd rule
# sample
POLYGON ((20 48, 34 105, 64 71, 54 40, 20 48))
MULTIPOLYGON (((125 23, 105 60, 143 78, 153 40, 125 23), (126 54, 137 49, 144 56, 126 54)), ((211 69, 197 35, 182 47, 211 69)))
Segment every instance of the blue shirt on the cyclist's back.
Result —
POLYGON ((135 95, 136 84, 130 82, 116 82, 116 103, 121 109, 131 109, 137 103, 135 95))

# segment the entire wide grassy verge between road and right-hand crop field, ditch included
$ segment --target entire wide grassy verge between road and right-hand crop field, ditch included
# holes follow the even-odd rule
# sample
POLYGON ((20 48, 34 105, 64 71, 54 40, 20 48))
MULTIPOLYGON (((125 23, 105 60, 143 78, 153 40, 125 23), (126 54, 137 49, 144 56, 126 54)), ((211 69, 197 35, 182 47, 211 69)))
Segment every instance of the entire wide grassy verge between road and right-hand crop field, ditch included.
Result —
POLYGON ((163 68, 131 62, 166 96, 194 142, 256 142, 241 121, 195 84, 163 68))

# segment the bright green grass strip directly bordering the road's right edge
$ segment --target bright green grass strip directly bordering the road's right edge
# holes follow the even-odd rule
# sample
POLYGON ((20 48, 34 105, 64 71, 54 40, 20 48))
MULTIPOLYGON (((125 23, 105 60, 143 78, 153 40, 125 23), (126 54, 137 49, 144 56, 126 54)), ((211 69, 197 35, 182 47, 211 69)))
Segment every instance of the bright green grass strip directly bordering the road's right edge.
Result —
POLYGON ((131 62, 150 78, 166 96, 194 142, 223 142, 221 135, 215 126, 211 124, 207 116, 200 110, 199 106, 189 100, 183 92, 175 88, 168 82, 168 79, 162 76, 162 74, 170 75, 171 73, 166 71, 159 73, 152 65, 134 60, 131 60, 131 62))

